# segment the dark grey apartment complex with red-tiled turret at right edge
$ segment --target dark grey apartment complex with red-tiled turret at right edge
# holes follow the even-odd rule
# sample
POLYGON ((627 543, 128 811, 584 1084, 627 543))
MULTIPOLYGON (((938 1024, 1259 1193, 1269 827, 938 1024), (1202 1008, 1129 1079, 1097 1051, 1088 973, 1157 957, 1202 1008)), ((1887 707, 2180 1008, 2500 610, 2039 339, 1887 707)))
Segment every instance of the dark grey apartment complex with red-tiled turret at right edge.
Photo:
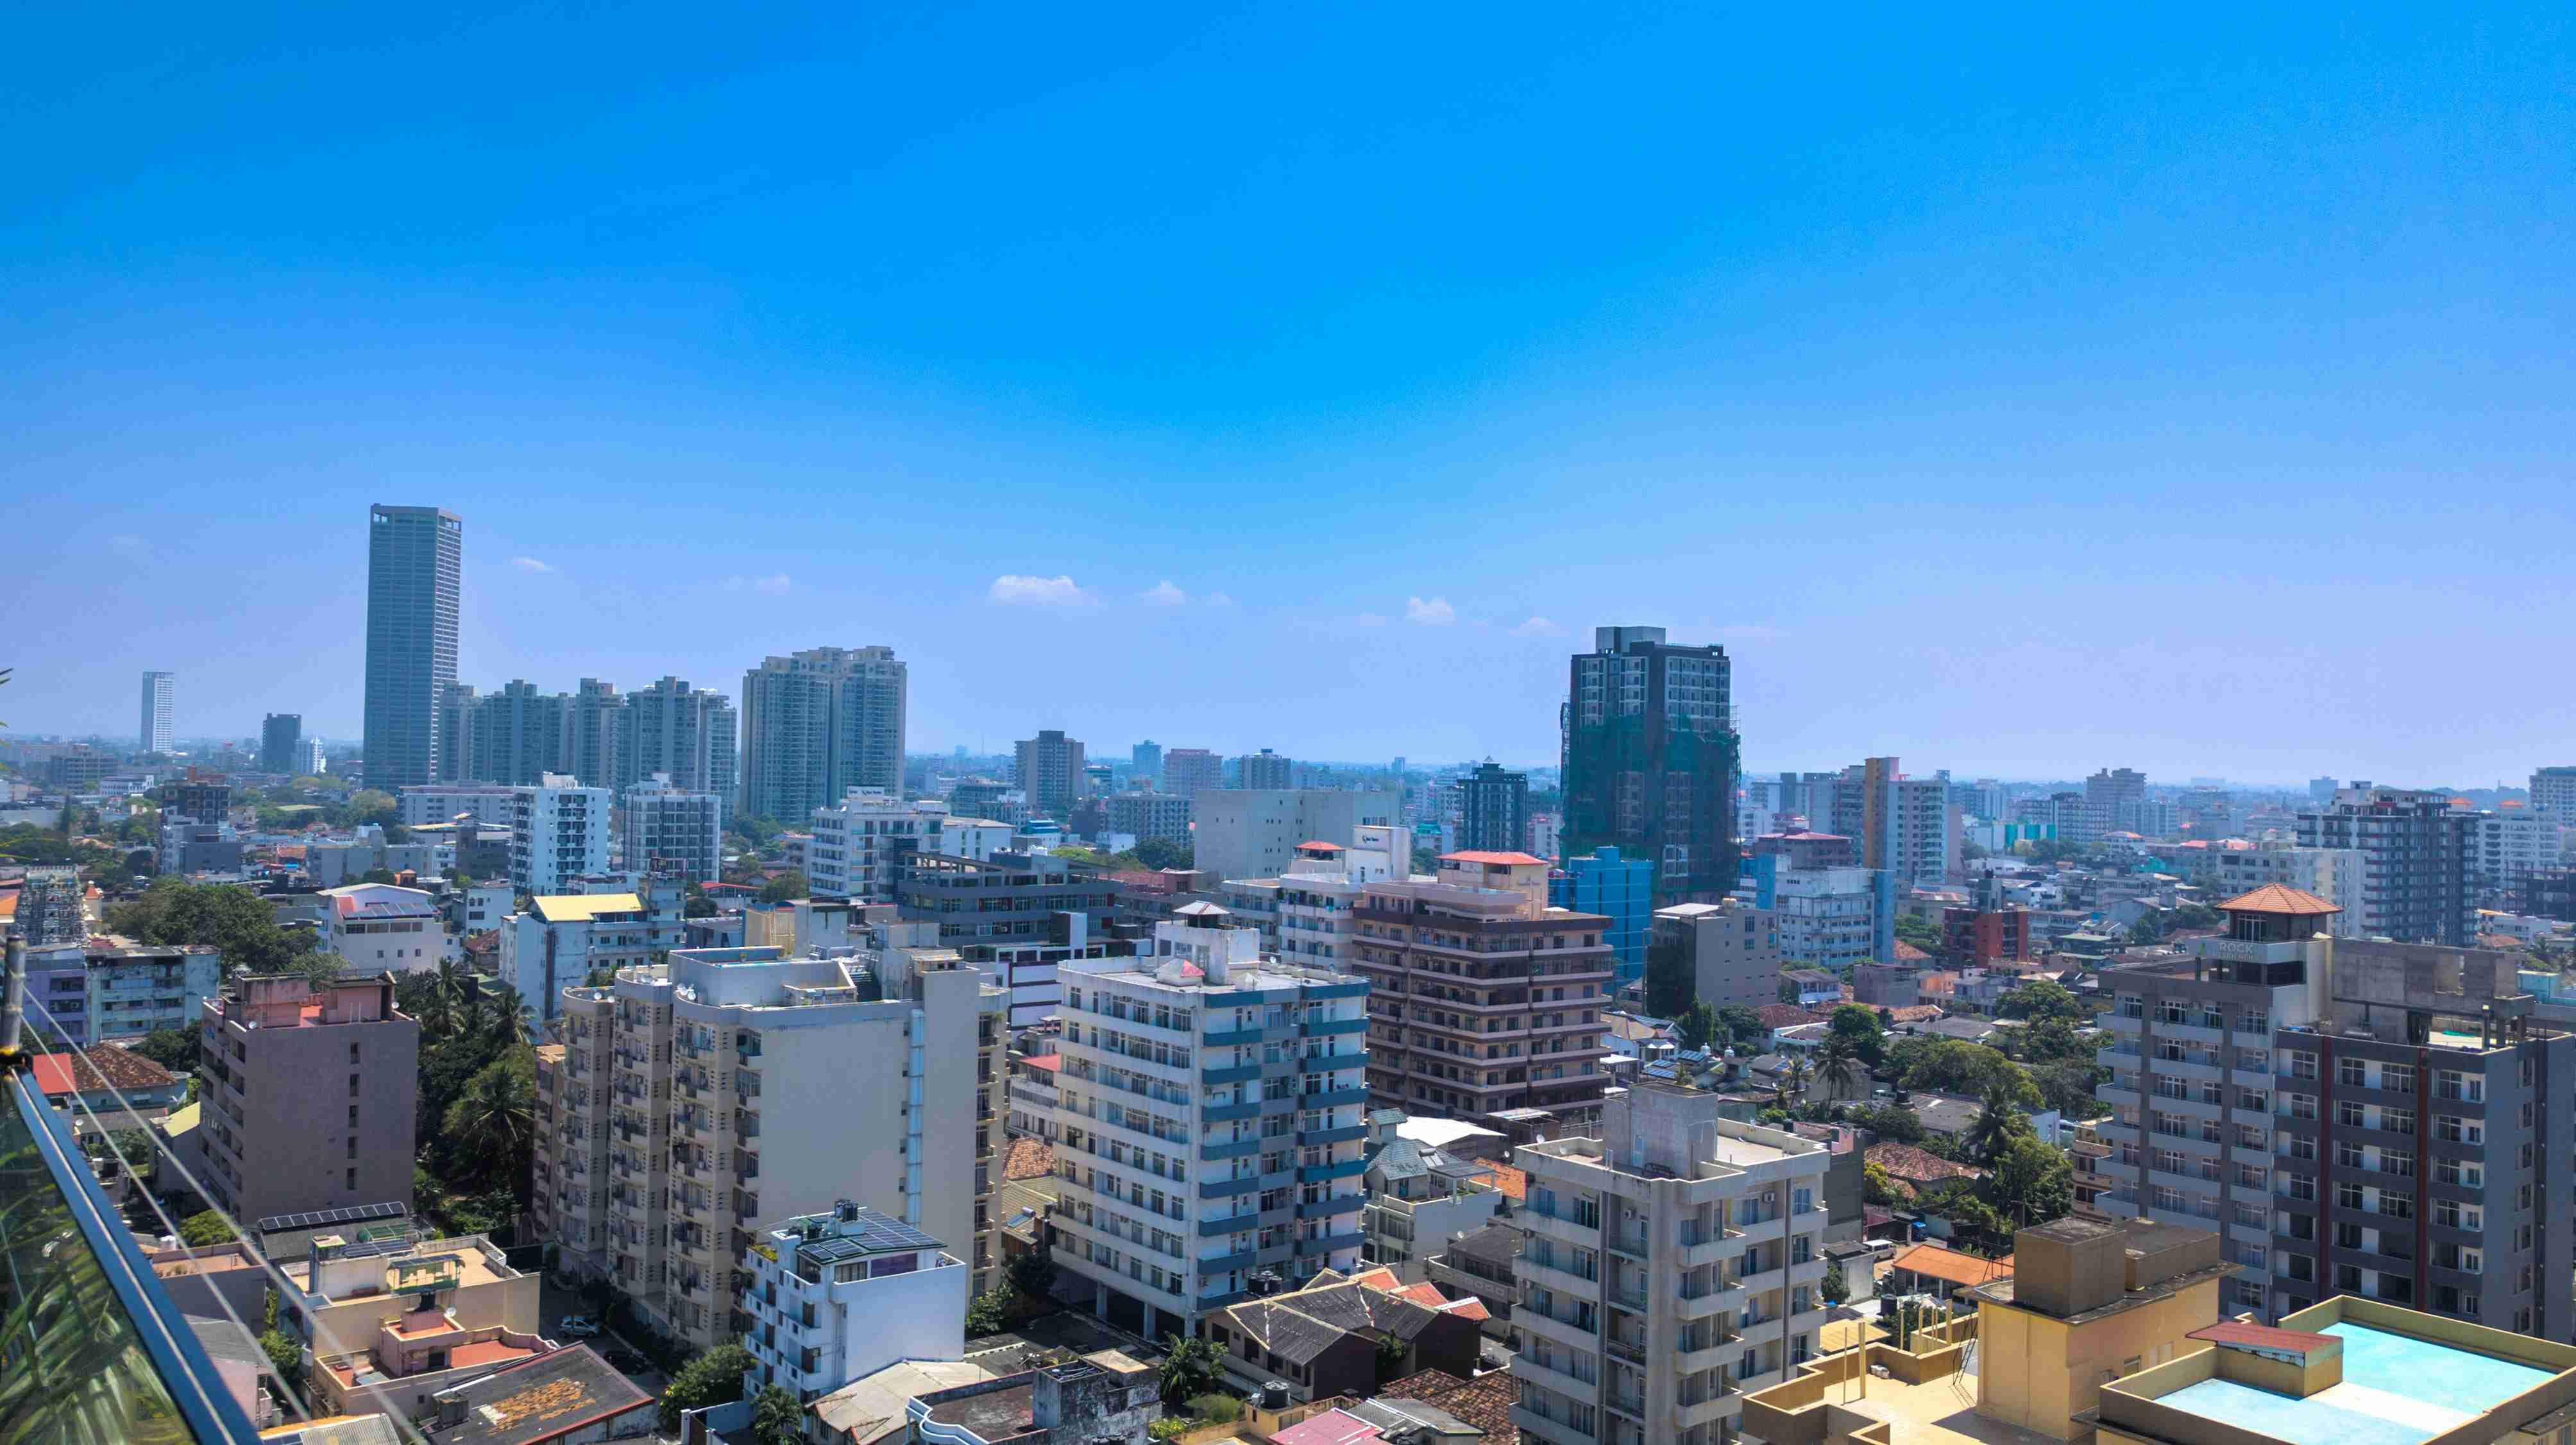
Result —
POLYGON ((2221 912, 2190 963, 2102 974, 2079 1208, 2218 1229, 2228 1314, 2362 1296, 2566 1339, 2576 1038, 2532 1023, 2519 958, 2331 938, 2285 886, 2221 912))

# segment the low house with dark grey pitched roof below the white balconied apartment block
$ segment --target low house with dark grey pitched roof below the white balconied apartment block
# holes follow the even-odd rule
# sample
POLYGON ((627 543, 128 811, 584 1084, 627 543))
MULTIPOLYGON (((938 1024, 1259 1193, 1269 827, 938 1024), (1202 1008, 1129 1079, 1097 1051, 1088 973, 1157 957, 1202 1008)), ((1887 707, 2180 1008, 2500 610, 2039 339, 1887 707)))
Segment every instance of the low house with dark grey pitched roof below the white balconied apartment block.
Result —
POLYGON ((1208 1316, 1208 1339, 1226 1355, 1226 1378, 1244 1391, 1285 1383, 1291 1399, 1376 1393, 1381 1347, 1401 1347, 1404 1370, 1473 1375, 1486 1308, 1453 1301, 1440 1285, 1404 1285, 1388 1270, 1350 1280, 1319 1275, 1303 1290, 1244 1301, 1208 1316))

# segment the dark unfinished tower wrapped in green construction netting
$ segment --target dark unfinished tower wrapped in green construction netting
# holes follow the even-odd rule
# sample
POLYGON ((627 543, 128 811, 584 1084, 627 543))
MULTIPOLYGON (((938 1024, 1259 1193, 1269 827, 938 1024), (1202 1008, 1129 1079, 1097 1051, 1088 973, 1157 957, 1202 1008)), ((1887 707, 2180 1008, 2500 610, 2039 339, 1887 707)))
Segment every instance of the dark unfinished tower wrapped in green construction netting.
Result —
POLYGON ((1569 855, 1613 845, 1656 865, 1656 904, 1736 886, 1736 752, 1723 647, 1680 647, 1659 626, 1592 628, 1564 711, 1569 855))

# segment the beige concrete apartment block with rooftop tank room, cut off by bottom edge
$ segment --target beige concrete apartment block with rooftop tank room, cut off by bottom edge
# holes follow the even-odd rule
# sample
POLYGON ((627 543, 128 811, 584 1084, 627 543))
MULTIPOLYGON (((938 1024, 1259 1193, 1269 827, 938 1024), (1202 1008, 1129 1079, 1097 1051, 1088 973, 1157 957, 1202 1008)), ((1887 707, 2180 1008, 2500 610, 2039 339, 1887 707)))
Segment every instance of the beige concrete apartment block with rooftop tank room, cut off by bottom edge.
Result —
POLYGON ((1522 1437, 1731 1440, 1744 1391, 1819 1355, 1824 1144, 1736 1123, 1713 1092, 1641 1084, 1600 1138, 1528 1144, 1512 1357, 1522 1437))

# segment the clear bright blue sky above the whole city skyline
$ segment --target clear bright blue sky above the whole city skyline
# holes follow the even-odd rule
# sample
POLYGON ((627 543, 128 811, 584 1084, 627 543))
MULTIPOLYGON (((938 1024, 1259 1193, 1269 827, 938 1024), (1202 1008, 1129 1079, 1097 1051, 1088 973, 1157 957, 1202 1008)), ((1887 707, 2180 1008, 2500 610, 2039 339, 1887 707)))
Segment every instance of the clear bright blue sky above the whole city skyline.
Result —
POLYGON ((384 500, 466 680, 925 747, 1548 760, 1620 621, 1762 768, 2519 778, 2576 31, 2378 10, 31 13, 0 716, 353 734, 384 500))

